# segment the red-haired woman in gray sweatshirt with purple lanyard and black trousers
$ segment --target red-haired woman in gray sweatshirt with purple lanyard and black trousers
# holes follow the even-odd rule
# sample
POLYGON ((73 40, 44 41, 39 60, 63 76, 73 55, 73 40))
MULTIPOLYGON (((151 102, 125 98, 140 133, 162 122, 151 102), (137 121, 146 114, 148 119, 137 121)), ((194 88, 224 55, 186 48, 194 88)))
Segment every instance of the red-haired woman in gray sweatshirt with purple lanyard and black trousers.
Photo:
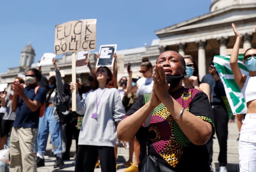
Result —
MULTIPOLYGON (((89 91, 82 101, 76 90, 76 112, 84 115, 78 138, 76 172, 94 171, 98 156, 102 172, 116 171, 116 125, 125 111, 110 69, 98 68, 96 79, 95 90, 89 91)), ((74 89, 71 82, 70 90, 74 89)))

